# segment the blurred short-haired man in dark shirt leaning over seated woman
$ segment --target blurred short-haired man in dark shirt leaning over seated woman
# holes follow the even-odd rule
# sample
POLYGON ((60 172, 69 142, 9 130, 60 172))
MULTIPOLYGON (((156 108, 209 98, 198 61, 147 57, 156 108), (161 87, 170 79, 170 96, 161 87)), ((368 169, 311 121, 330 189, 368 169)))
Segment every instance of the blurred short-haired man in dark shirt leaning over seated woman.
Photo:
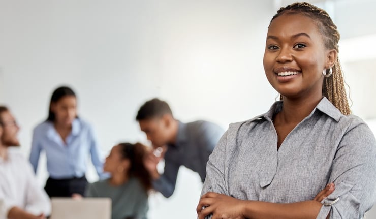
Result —
POLYGON ((224 133, 220 126, 203 120, 183 123, 173 117, 165 101, 157 98, 140 107, 136 120, 155 149, 144 164, 156 191, 165 197, 173 194, 181 165, 197 172, 204 182, 209 155, 224 133), (165 170, 160 175, 156 166, 162 158, 165 170))

